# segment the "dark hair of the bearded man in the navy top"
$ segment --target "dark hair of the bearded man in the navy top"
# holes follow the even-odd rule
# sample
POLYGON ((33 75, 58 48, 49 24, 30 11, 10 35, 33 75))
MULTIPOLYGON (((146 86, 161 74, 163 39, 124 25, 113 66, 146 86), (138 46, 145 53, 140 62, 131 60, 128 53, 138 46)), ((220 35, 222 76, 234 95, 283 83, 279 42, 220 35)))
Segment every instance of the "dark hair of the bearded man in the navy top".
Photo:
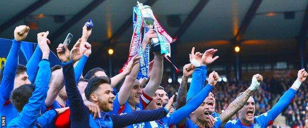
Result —
POLYGON ((90 95, 92 92, 98 89, 99 85, 101 84, 110 84, 110 80, 106 76, 95 76, 93 79, 91 79, 87 85, 87 87, 84 89, 84 95, 85 97, 90 100, 90 95))

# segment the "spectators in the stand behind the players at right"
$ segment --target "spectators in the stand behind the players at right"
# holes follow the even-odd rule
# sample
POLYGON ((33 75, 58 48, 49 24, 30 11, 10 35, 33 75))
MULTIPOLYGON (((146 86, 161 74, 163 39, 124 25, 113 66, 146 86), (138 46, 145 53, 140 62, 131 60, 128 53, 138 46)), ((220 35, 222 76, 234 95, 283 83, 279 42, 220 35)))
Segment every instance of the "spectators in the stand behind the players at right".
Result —
MULTIPOLYGON (((277 97, 283 95, 285 91, 292 85, 294 78, 281 77, 276 79, 267 79, 260 84, 259 89, 252 95, 256 104, 256 115, 261 115, 269 111, 274 103, 277 102, 277 97)), ((228 105, 235 99, 239 92, 244 92, 250 84, 249 81, 228 81, 219 82, 216 89, 212 91, 215 94, 216 99, 216 112, 221 113, 228 105)), ((166 92, 170 95, 177 92, 178 84, 169 84, 166 82, 166 92)), ((288 107, 282 112, 285 116, 286 126, 291 128, 307 128, 308 127, 308 82, 304 82, 301 90, 288 105, 288 107)), ((235 114, 232 119, 237 119, 238 114, 235 114)), ((285 126, 284 124, 274 124, 285 126)))

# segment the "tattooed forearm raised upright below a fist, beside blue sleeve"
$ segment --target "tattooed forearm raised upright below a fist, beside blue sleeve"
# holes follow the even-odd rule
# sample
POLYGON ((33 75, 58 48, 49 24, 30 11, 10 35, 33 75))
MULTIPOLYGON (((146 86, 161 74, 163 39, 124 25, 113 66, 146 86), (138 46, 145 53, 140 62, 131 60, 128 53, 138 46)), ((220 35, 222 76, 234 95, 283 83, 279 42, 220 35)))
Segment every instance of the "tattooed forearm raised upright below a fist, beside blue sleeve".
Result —
MULTIPOLYGON (((178 96, 176 99, 177 105, 176 105, 176 110, 180 109, 186 104, 186 95, 187 95, 187 77, 182 77, 182 82, 178 90, 178 96)), ((182 121, 180 121, 177 125, 178 126, 183 126, 186 122, 186 118, 184 118, 182 121)))

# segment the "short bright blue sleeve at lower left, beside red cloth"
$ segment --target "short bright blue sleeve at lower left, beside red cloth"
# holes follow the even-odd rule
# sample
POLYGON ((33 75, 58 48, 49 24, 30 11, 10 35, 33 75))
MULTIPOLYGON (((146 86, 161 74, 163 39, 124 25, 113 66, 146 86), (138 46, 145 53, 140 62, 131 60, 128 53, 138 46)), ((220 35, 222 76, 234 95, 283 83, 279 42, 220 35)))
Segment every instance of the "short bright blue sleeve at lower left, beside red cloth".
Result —
POLYGON ((56 110, 54 109, 48 110, 38 118, 37 122, 39 123, 39 126, 41 128, 46 128, 46 126, 54 123, 56 117, 57 117, 56 110))

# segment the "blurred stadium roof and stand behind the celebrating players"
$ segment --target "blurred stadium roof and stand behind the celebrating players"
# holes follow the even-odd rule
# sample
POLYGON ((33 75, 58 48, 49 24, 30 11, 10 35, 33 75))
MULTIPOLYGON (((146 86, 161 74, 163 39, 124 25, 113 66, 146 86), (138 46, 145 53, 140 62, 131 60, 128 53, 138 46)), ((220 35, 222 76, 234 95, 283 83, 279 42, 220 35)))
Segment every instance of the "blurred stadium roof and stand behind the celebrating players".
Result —
MULTIPOLYGON (((162 27, 178 38, 171 44, 171 58, 181 71, 175 73, 171 64, 167 61, 164 64, 162 86, 170 94, 179 87, 182 67, 189 63, 192 47, 202 53, 218 49, 215 55, 219 59, 207 69, 221 76, 214 93, 221 97, 216 100, 221 102, 216 103, 219 113, 231 101, 223 97, 236 97, 237 90, 246 89, 256 73, 266 77, 262 89, 255 94, 256 108, 259 107, 259 113, 269 110, 276 97, 291 86, 298 69, 307 67, 308 0, 140 2, 150 5, 162 27), (227 87, 236 92, 223 91, 227 87)), ((113 76, 126 63, 135 0, 0 0, 0 5, 0 38, 12 39, 16 26, 27 25, 31 30, 25 41, 37 42, 37 33, 49 31, 50 49, 55 52, 69 32, 74 35, 75 43, 86 20, 92 19, 94 29, 88 39, 92 55, 83 74, 102 67, 113 76), (111 55, 110 49, 113 49, 111 55)), ((308 122, 307 83, 300 91, 275 125, 304 127, 308 122)))

